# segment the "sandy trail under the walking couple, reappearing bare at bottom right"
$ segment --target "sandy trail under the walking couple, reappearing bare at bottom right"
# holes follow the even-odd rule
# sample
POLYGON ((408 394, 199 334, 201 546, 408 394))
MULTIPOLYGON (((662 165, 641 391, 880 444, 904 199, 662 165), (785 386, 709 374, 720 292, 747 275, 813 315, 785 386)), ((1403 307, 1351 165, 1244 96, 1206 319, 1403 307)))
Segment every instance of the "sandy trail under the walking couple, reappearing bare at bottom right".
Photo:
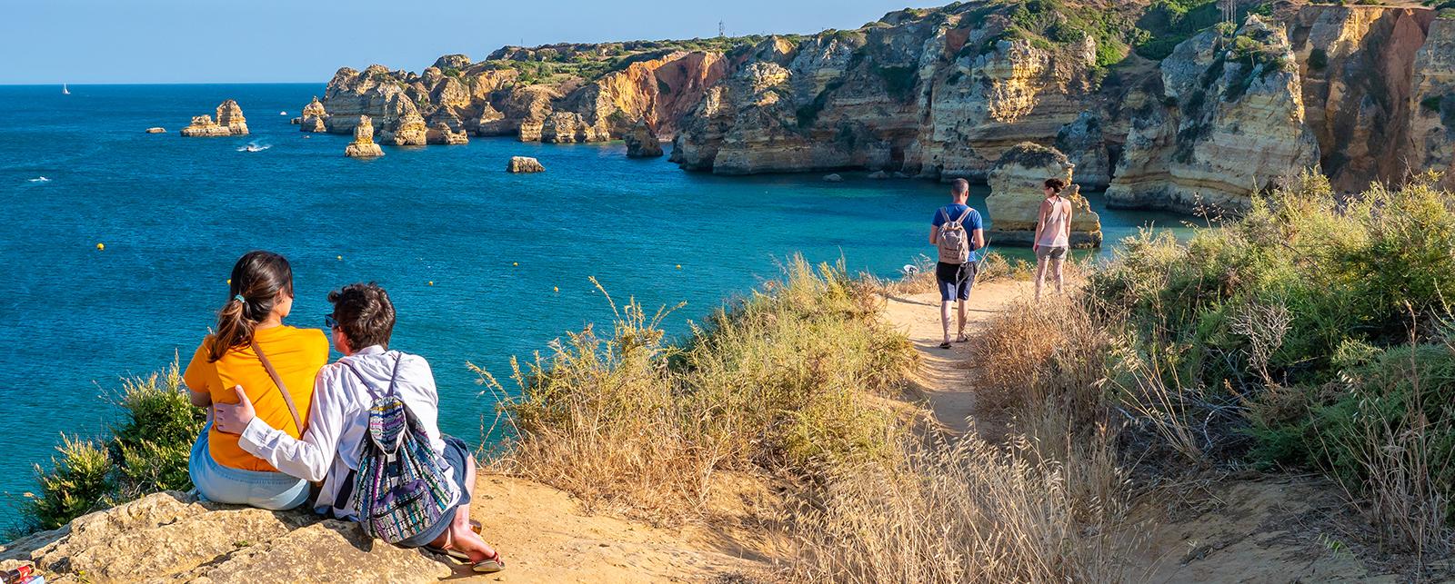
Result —
MULTIPOLYGON (((950 433, 963 434, 972 421, 992 442, 1014 431, 1008 414, 976 410, 969 344, 995 315, 1033 293, 1030 282, 976 283, 966 318, 970 340, 952 349, 940 349, 938 292, 888 298, 885 318, 920 350, 914 381, 950 433)), ((1133 583, 1400 581, 1349 551, 1347 535, 1359 529, 1350 523, 1340 492, 1323 478, 1245 472, 1179 479, 1133 500, 1126 527, 1139 536, 1122 552, 1125 577, 1133 583)))

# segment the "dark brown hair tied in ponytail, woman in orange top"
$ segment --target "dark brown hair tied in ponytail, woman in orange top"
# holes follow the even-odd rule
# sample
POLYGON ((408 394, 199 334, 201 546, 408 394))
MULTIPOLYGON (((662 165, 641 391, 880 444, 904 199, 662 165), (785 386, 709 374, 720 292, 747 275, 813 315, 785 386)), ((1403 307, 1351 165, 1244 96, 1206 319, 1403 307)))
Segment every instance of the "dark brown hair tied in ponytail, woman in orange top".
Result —
POLYGON ((217 362, 230 349, 253 341, 253 330, 272 314, 278 292, 292 293, 292 266, 272 251, 249 251, 233 264, 227 304, 217 311, 217 333, 207 360, 217 362))

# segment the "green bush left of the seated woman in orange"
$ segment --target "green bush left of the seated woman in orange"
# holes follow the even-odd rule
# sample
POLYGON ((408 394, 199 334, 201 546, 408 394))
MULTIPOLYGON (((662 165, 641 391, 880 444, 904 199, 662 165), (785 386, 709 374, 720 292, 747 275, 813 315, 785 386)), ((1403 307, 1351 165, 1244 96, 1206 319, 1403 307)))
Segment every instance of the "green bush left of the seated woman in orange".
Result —
POLYGON ((26 494, 13 532, 57 529, 86 513, 156 491, 188 491, 188 456, 205 414, 192 407, 173 362, 164 372, 122 381, 121 424, 108 439, 61 436, 51 468, 35 465, 38 494, 26 494))

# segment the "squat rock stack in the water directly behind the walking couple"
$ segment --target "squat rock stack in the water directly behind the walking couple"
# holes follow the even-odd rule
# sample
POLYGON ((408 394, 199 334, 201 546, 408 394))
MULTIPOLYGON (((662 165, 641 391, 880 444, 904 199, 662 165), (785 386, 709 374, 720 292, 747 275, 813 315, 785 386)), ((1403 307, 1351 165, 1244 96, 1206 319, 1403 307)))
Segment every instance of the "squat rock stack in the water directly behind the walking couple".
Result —
MULTIPOLYGON (((1020 142, 1005 154, 989 173, 991 195, 985 198, 989 215, 989 240, 1001 246, 1032 246, 1040 202, 1046 199, 1046 179, 1061 179, 1071 184, 1075 164, 1059 150, 1035 142, 1020 142)), ((1062 192, 1075 209, 1071 218, 1071 247, 1101 247, 1101 218, 1071 184, 1062 192)))

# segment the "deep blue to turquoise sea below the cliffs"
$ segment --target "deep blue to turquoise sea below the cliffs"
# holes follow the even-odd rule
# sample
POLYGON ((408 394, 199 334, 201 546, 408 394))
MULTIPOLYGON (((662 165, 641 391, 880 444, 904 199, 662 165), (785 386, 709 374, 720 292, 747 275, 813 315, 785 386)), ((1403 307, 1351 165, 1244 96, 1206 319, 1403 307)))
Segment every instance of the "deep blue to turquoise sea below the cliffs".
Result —
MULTIPOLYGON (((608 318, 588 276, 618 299, 685 301, 668 320, 681 331, 774 276, 776 260, 794 251, 892 276, 931 251, 927 224, 946 202, 944 186, 918 180, 691 174, 665 158, 627 160, 620 142, 473 139, 351 160, 348 137, 288 123, 323 93, 317 84, 71 93, 0 87, 0 402, 9 420, 0 447, 12 465, 0 491, 10 504, 33 488, 29 465, 51 455, 60 433, 96 436, 115 420, 105 397, 121 376, 191 356, 247 250, 292 261, 294 325, 322 328, 333 288, 386 286, 399 311, 393 346, 434 365, 445 431, 480 442, 493 398, 466 362, 505 378, 509 356, 608 318), (176 134, 228 97, 243 106, 250 137, 176 134), (169 134, 143 134, 148 126, 169 134), (249 142, 269 148, 239 151, 249 142), (537 157, 549 171, 506 174, 511 155, 537 157), (42 176, 49 180, 35 180, 42 176)), ((1109 241, 1181 221, 1093 203, 1109 241)), ((984 192, 972 205, 984 209, 984 192)), ((0 510, 0 520, 12 516, 0 510)))

